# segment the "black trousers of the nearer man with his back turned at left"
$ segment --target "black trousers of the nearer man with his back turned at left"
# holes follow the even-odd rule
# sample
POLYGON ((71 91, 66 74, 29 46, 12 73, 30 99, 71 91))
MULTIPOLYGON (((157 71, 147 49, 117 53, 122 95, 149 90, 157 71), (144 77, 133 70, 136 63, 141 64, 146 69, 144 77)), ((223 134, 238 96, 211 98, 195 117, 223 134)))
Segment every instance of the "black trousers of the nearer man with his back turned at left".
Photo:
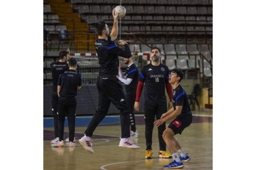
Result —
POLYGON ((77 100, 75 97, 59 98, 59 141, 63 140, 64 121, 67 116, 69 123, 69 142, 73 142, 75 137, 75 110, 77 108, 77 100))

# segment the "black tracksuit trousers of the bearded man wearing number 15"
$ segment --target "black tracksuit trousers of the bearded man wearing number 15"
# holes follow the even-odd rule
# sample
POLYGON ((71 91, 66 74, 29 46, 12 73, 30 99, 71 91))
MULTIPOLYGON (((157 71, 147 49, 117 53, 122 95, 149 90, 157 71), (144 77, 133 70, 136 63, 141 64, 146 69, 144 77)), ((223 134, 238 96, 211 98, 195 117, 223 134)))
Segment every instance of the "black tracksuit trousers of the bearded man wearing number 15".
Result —
MULTIPOLYGON (((146 150, 152 149, 152 133, 154 128, 154 121, 155 117, 156 119, 160 119, 161 115, 167 111, 166 102, 163 102, 161 104, 156 103, 150 103, 145 101, 145 137, 146 137, 146 150)), ((158 140, 159 140, 159 148, 160 150, 166 151, 166 144, 163 140, 163 132, 165 130, 166 126, 165 123, 161 124, 161 126, 158 127, 158 140)))

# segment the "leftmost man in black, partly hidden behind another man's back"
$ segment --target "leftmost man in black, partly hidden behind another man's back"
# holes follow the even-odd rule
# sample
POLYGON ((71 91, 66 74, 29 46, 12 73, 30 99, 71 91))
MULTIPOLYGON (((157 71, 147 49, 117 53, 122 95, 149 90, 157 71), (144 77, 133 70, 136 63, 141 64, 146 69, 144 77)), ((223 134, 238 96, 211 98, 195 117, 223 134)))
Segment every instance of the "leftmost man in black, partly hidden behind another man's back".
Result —
POLYGON ((51 140, 51 144, 54 144, 59 140, 59 116, 58 116, 58 102, 59 97, 57 94, 57 85, 58 85, 58 79, 59 75, 61 73, 64 73, 64 71, 69 70, 69 65, 67 65, 67 51, 61 51, 59 52, 59 61, 58 62, 52 62, 51 63, 51 71, 53 75, 53 91, 51 94, 51 105, 52 105, 52 111, 53 111, 53 119, 54 119, 54 136, 55 139, 51 140))

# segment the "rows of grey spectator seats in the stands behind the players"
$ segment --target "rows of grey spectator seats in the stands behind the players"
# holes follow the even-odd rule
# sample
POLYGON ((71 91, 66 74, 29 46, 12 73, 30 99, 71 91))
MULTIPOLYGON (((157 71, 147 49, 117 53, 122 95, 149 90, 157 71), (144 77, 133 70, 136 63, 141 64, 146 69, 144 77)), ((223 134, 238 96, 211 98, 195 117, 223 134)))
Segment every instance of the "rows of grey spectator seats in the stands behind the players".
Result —
MULTIPOLYGON (((105 20, 109 28, 112 27, 111 10, 119 5, 119 2, 70 0, 70 5, 94 33, 93 25, 98 21, 105 20)), ((194 57, 197 55, 197 68, 202 68, 203 62, 204 75, 212 76, 213 47, 211 41, 207 39, 212 39, 211 0, 124 0, 122 6, 126 7, 127 14, 121 19, 122 25, 119 29, 122 31, 122 37, 125 36, 130 40, 129 46, 132 52, 149 53, 150 47, 159 47, 170 70, 175 67, 182 70, 195 68, 194 57), (189 42, 189 38, 192 41, 189 42), (138 39, 142 41, 137 41, 138 39), (210 63, 202 60, 202 55, 210 63)), ((43 18, 46 31, 56 31, 59 34, 60 30, 67 30, 67 26, 61 24, 59 16, 54 14, 49 4, 44 4, 43 18)), ((50 42, 49 51, 45 52, 45 56, 58 57, 59 50, 69 46, 69 44, 50 42)), ((44 68, 49 68, 49 63, 51 61, 45 60, 44 68)), ((85 69, 98 67, 98 63, 94 60, 79 61, 79 65, 85 69)), ((50 79, 51 75, 46 73, 44 79, 45 77, 50 79)), ((82 72, 82 77, 96 79, 97 75, 93 72, 86 74, 82 72)))

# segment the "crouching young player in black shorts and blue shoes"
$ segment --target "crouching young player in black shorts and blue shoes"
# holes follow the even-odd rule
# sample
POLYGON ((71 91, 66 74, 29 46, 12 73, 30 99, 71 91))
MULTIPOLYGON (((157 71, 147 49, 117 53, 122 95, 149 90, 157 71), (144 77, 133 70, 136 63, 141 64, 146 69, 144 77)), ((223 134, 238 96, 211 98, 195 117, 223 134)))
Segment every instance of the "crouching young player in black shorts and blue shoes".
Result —
POLYGON ((154 122, 155 126, 159 127, 166 121, 174 120, 169 124, 168 128, 163 132, 163 139, 166 143, 171 155, 173 156, 173 162, 164 165, 166 169, 182 168, 184 164, 181 161, 189 161, 190 156, 184 152, 179 142, 174 137, 176 134, 181 132, 192 123, 192 113, 187 100, 187 94, 183 87, 179 84, 183 78, 181 70, 175 68, 171 70, 169 76, 169 83, 173 87, 173 108, 164 113, 161 119, 154 122), (178 155, 177 151, 181 154, 178 155))

